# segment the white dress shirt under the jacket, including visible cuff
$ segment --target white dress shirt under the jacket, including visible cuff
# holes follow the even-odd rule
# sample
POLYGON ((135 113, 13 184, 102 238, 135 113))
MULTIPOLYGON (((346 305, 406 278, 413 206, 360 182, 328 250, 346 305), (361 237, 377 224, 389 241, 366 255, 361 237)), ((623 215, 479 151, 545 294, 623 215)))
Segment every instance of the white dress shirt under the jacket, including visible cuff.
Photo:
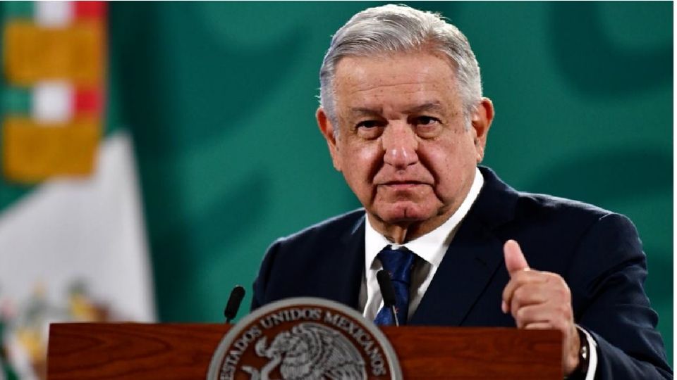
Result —
MULTIPOLYGON (((422 259, 416 262, 411 272, 409 310, 407 315, 408 318, 411 318, 416 308, 418 308, 423 294, 428 289, 432 277, 437 272, 437 268, 440 262, 442 262, 442 258, 444 258, 444 254, 447 248, 449 248, 453 236, 456 235, 456 231, 458 231, 463 218, 468 214, 470 206, 472 206, 472 203, 475 203, 477 196, 480 194, 483 184, 484 177, 482 177, 482 173, 479 169, 475 169, 475 179, 472 181, 468 196, 465 197, 456 213, 453 213, 444 224, 431 232, 404 244, 392 243, 372 227, 368 217, 365 218, 365 278, 362 281, 362 288, 360 289, 360 305, 363 310, 362 315, 365 318, 374 320, 379 310, 383 307, 383 298, 379 282, 376 278, 377 272, 383 269, 383 265, 377 258, 377 255, 389 244, 393 248, 405 246, 422 259)), ((496 308, 499 308, 499 305, 496 305, 496 308)), ((583 332, 587 338, 588 346, 590 346, 590 362, 585 380, 592 380, 594 372, 597 369, 597 343, 595 343, 592 336, 585 329, 583 329, 583 332)))

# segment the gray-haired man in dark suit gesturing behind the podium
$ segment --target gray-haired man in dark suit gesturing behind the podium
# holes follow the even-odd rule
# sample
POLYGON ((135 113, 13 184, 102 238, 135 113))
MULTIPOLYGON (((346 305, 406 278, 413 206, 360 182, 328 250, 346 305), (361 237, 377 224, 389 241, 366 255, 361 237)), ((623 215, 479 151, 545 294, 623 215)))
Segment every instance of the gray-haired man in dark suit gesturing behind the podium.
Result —
POLYGON ((320 81, 319 128, 364 209, 276 241, 252 308, 316 296, 387 322, 385 268, 404 323, 558 329, 567 376, 672 377, 631 222, 477 166, 494 108, 456 27, 367 9, 334 35, 320 81))

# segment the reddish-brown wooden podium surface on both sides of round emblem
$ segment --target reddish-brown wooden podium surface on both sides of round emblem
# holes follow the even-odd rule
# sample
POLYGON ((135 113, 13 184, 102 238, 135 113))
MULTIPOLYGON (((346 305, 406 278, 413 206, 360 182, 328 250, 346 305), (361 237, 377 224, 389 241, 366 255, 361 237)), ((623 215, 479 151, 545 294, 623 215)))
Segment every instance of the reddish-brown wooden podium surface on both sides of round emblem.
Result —
MULTIPOLYGON (((226 324, 51 324, 47 379, 203 380, 226 324)), ((404 379, 561 380, 561 334, 384 327, 404 379)))

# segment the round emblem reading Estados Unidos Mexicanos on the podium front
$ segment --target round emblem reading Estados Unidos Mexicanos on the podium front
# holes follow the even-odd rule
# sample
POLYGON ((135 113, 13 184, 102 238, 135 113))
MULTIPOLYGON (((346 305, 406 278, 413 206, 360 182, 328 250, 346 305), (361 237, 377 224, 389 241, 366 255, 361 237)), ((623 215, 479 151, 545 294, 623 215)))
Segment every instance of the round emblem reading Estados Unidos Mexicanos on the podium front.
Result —
POLYGON ((288 298, 244 317, 221 339, 207 380, 402 379, 373 322, 321 298, 288 298))

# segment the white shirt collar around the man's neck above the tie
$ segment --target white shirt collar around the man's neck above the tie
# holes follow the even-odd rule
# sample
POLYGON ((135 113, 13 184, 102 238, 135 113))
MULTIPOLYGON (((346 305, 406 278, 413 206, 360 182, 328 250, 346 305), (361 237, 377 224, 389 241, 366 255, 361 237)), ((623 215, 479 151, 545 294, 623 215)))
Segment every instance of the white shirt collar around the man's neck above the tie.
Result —
POLYGON ((385 236, 379 234, 379 232, 372 227, 372 224, 369 222, 369 218, 365 224, 365 267, 367 270, 377 269, 374 267, 374 259, 379 254, 379 252, 391 244, 394 248, 400 246, 405 246, 410 251, 416 253, 420 258, 429 262, 430 264, 437 267, 439 263, 444 258, 444 253, 446 253, 446 248, 449 248, 451 239, 453 235, 456 234, 461 220, 468 214, 470 206, 475 202, 477 196, 480 194, 480 189, 482 189, 482 184, 484 184, 484 178, 479 169, 475 169, 475 179, 472 180, 472 185, 470 186, 470 191, 468 195, 465 196, 463 203, 458 207, 451 217, 449 217, 446 222, 441 224, 436 229, 431 232, 418 237, 412 241, 408 241, 402 245, 391 243, 385 236))

